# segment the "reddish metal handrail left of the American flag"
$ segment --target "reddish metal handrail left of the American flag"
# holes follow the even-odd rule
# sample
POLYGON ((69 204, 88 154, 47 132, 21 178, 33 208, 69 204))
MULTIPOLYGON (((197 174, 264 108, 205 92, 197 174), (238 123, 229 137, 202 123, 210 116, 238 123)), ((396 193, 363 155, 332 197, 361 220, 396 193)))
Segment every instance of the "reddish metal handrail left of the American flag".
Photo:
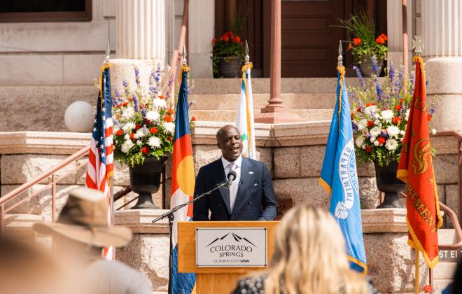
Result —
MULTIPOLYGON (((57 181, 59 181, 59 179, 64 179, 66 176, 69 176, 69 174, 74 172, 74 170, 71 172, 67 172, 66 174, 62 175, 60 178, 57 177, 56 172, 59 172, 60 169, 66 167, 72 162, 76 162, 80 158, 83 158, 83 156, 87 155, 89 151, 90 151, 90 146, 82 148, 80 151, 74 153, 73 155, 70 155, 68 158, 60 162, 55 167, 48 169, 46 172, 43 172, 42 174, 36 176, 31 181, 28 181, 27 183, 22 184, 18 188, 15 188, 14 190, 10 191, 9 193, 6 193, 6 195, 1 197, 0 198, 0 231, 3 231, 3 228, 5 226, 5 214, 8 211, 10 211, 11 209, 14 209, 15 207, 18 207, 18 205, 31 199, 31 197, 38 195, 39 193, 43 192, 43 190, 48 189, 50 186, 52 190, 51 191, 51 197, 52 197, 51 198, 51 207, 52 207, 51 208, 51 219, 54 222, 56 219, 56 183, 57 181), (40 183, 44 179, 48 178, 48 176, 51 176, 51 183, 48 183, 46 186, 38 190, 36 193, 25 197, 19 202, 13 204, 11 207, 6 208, 6 204, 8 202, 18 197, 21 193, 25 192, 27 189, 34 186, 36 183, 40 183)), ((80 167, 76 167, 76 169, 78 168, 80 167)))

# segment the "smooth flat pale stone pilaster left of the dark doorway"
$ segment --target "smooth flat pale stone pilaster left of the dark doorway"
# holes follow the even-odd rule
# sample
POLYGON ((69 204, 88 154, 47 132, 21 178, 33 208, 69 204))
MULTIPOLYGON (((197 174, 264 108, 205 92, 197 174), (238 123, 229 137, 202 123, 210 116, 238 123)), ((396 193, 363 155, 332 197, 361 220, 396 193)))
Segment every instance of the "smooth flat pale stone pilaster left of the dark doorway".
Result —
POLYGON ((189 4, 188 62, 193 78, 212 78, 211 40, 214 38, 215 1, 194 0, 189 4))

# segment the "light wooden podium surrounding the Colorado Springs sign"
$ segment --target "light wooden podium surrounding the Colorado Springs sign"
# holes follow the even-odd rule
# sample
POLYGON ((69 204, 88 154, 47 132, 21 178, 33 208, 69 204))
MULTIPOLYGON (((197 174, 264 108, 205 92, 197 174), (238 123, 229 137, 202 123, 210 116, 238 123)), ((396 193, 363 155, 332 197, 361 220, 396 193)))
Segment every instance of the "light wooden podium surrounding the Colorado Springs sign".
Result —
POLYGON ((197 228, 267 228, 267 260, 279 221, 191 221, 178 223, 178 271, 196 273, 196 293, 231 293, 240 276, 265 267, 197 267, 197 228))

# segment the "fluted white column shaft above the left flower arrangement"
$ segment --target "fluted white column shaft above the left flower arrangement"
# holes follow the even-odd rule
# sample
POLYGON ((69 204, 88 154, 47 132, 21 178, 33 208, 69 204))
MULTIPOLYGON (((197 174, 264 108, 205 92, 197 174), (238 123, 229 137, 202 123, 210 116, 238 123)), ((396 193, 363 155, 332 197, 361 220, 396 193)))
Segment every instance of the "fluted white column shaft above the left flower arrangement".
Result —
POLYGON ((165 64, 165 1, 118 0, 118 58, 165 64))

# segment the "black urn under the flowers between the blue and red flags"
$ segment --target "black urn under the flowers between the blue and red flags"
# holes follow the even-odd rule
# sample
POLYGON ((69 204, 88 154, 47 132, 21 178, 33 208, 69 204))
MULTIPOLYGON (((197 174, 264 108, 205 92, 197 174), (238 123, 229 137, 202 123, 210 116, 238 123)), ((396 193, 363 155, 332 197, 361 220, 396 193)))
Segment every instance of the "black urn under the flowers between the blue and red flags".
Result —
POLYGON ((396 178, 398 162, 392 161, 386 167, 381 167, 374 162, 374 166, 377 188, 385 193, 384 202, 377 208, 404 208, 399 201, 399 193, 405 190, 406 184, 396 178))

